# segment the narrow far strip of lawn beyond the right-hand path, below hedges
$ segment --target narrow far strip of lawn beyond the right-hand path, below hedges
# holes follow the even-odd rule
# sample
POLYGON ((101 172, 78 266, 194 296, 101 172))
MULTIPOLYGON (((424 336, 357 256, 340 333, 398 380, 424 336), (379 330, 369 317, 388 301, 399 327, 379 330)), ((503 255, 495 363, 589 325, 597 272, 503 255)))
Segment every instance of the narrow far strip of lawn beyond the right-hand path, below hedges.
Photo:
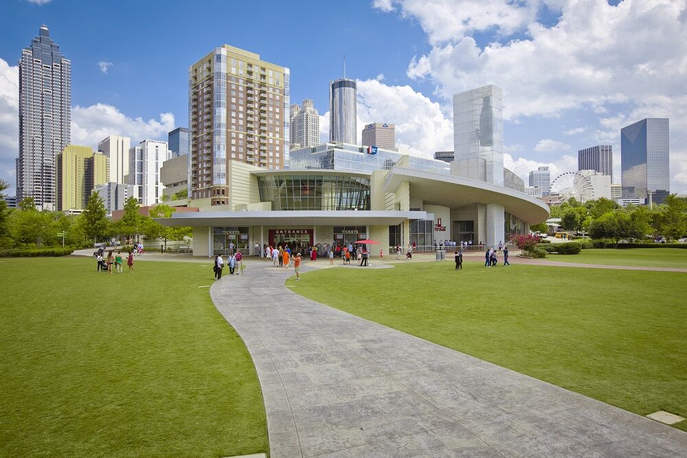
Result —
POLYGON ((602 248, 582 250, 579 254, 548 254, 546 259, 569 263, 687 269, 687 249, 683 248, 602 248))

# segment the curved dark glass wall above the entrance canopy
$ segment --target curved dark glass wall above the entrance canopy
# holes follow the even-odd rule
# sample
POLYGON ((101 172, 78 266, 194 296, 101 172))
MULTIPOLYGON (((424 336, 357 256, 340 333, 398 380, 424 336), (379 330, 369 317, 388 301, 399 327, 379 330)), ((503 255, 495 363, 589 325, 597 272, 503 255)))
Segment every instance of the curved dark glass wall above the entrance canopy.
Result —
POLYGON ((258 177, 260 201, 272 210, 370 210, 370 179, 337 175, 258 177))

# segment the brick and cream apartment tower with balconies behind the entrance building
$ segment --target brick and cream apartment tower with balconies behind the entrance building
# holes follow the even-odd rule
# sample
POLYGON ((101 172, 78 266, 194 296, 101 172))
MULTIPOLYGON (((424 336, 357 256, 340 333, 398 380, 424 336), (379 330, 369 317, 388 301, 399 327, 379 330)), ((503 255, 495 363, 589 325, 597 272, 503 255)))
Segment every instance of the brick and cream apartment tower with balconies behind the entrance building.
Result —
POLYGON ((229 160, 284 168, 289 69, 223 45, 189 69, 190 195, 227 204, 229 160))

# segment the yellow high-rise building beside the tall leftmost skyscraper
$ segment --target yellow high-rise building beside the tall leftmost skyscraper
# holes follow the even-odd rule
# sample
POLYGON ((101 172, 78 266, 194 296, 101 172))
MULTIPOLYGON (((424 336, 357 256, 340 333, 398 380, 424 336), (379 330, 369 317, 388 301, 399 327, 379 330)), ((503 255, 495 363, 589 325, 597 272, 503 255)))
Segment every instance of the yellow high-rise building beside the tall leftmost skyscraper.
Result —
POLYGON ((107 182, 108 159, 91 146, 69 144, 57 155, 57 210, 83 210, 95 186, 107 182))

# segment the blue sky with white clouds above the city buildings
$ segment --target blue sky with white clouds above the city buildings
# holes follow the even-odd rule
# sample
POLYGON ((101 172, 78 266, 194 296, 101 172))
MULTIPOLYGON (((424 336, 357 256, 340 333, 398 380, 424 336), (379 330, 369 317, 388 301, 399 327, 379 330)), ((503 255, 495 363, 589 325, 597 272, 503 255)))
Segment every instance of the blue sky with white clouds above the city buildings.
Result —
POLYGON ((495 83, 506 165, 523 177, 543 164, 572 170, 578 149, 610 143, 619 182, 620 127, 668 116, 673 190, 687 191, 686 0, 38 3, 5 1, 0 16, 0 178, 12 184, 12 78, 46 23, 72 63, 72 142, 185 127, 188 66, 227 43, 289 67, 291 102, 315 100, 323 137, 345 54, 359 130, 394 122, 401 149, 419 155, 452 149, 452 94, 495 83))

